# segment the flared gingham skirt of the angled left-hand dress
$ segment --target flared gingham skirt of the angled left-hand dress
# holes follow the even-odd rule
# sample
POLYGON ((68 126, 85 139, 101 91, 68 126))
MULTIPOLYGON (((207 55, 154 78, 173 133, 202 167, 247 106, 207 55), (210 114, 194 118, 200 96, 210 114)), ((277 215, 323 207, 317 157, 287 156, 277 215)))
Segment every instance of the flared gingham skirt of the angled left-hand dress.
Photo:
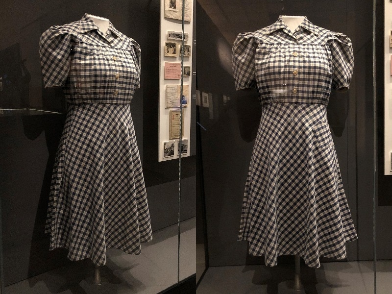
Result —
POLYGON ((106 263, 106 249, 139 254, 151 237, 146 187, 129 104, 73 104, 52 173, 50 250, 106 263))

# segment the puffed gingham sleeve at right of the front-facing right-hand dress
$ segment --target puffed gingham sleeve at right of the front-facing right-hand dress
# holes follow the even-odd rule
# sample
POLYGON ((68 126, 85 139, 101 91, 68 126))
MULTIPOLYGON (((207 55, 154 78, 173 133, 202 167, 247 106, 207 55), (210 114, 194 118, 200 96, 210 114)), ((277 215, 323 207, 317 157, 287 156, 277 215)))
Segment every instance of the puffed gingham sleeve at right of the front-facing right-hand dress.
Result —
POLYGON ((349 88, 354 69, 351 40, 342 33, 334 33, 334 39, 330 42, 329 48, 334 66, 332 87, 335 89, 349 88))

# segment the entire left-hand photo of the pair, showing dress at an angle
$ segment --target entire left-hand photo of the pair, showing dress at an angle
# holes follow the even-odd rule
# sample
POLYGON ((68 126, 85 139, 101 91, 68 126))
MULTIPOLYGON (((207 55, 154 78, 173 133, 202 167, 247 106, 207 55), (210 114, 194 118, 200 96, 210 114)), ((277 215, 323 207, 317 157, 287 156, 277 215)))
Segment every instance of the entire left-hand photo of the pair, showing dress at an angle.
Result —
POLYGON ((8 1, 0 293, 195 292, 193 5, 8 1))

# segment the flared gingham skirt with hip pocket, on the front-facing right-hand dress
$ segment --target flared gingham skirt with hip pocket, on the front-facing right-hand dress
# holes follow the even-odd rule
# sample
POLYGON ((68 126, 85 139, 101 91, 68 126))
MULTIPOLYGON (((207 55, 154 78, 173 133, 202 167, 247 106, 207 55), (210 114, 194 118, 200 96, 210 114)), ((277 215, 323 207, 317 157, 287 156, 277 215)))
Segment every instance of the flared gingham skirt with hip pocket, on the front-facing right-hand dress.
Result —
POLYGON ((245 185, 238 240, 275 266, 298 254, 343 259, 357 239, 322 104, 267 103, 245 185))

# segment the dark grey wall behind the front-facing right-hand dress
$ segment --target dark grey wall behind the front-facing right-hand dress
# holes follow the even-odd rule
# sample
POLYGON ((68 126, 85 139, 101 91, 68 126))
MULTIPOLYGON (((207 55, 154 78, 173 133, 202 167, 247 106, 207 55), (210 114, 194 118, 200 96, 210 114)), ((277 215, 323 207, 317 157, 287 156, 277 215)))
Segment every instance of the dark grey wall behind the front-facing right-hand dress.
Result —
MULTIPOLYGON (((332 93, 328 121, 342 170, 346 196, 359 235, 347 245, 348 260, 371 260, 373 181, 372 108, 372 3, 369 1, 285 1, 284 14, 306 15, 315 25, 348 35, 354 48, 355 68, 350 91, 332 93), (348 7, 350 7, 348 9, 348 7)), ((251 5, 251 3, 249 3, 251 5)), ((266 4, 267 5, 267 4, 266 4)), ((265 7, 269 18, 251 26, 236 27, 236 33, 254 31, 276 21, 280 9, 265 7)), ((230 22, 232 15, 225 11, 230 22)), ((235 13, 235 12, 233 12, 235 13)), ((255 12, 257 13, 257 11, 255 12)), ((257 93, 234 91, 229 44, 201 6, 197 5, 197 88, 213 94, 214 118, 199 107, 208 253, 210 266, 262 263, 247 255, 245 242, 237 242, 247 169, 260 119, 257 93), (231 100, 223 105, 222 95, 231 100)), ((249 17, 251 18, 251 17, 249 17)), ((244 22, 245 23, 245 22, 244 22)), ((381 220, 380 220, 381 221, 381 220)), ((379 245, 380 246, 380 245, 379 245)), ((381 246, 388 248, 388 243, 381 246)), ((385 257, 392 257, 391 250, 385 257)))

